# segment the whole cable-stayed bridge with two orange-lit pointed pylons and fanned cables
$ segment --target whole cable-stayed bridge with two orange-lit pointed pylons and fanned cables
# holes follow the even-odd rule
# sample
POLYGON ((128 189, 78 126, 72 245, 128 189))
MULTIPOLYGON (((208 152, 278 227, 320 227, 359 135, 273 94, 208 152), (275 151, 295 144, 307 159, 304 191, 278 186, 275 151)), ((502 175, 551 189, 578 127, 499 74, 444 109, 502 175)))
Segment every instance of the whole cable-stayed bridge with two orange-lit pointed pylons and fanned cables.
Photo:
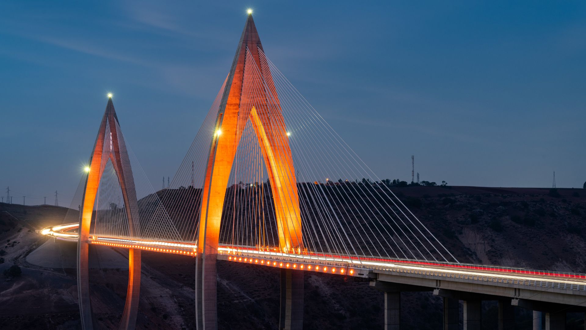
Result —
POLYGON ((282 329, 302 328, 308 271, 370 279, 385 292, 386 329, 399 328, 401 291, 444 297, 445 329, 458 328, 459 300, 465 329, 481 328, 482 300, 499 301, 503 329, 514 305, 563 329, 565 312, 586 304, 586 275, 456 260, 267 58, 250 13, 170 186, 152 189, 109 97, 63 224, 42 233, 78 243, 84 329, 95 321, 90 245, 129 251, 120 329, 135 328, 143 250, 196 259, 198 329, 217 328, 217 260, 281 269, 282 329))

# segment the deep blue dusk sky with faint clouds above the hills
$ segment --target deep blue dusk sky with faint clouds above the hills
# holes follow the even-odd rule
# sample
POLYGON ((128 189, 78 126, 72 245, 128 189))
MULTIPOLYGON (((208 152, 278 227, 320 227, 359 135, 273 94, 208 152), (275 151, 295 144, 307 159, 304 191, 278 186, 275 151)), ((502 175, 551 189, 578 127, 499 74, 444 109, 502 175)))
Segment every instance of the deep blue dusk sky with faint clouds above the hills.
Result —
POLYGON ((0 3, 0 194, 68 206, 114 93, 155 189, 254 9, 268 58, 379 177, 582 187, 584 1, 0 3))

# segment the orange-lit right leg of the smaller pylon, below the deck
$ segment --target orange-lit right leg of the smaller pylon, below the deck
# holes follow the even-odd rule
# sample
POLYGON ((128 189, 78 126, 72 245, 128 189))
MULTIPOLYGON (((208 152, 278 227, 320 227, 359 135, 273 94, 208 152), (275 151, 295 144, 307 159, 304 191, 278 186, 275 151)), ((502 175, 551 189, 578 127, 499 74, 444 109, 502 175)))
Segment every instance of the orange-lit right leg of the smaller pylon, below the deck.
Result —
POLYGON ((141 250, 128 250, 128 289, 118 330, 134 330, 137 325, 138 298, 141 292, 141 250))

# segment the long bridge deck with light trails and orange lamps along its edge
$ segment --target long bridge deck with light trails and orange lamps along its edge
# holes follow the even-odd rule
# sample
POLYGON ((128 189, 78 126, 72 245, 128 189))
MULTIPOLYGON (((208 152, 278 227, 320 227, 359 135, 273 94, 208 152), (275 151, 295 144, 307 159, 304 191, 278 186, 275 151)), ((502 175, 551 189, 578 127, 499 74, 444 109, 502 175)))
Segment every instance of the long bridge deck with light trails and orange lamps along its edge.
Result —
MULTIPOLYGON (((41 231, 60 240, 77 241, 79 224, 66 224, 41 231)), ((171 242, 130 237, 90 235, 90 243, 117 248, 137 248, 161 253, 197 255, 195 242, 171 242)), ((458 291, 555 301, 562 304, 586 303, 586 275, 567 272, 536 271, 524 268, 453 264, 422 260, 396 260, 298 251, 286 253, 258 247, 220 244, 217 258, 264 267, 327 272, 379 281, 448 288, 458 291), (523 294, 522 292, 529 292, 523 294), (536 292, 537 291, 537 292, 536 292), (568 298, 569 297, 569 298, 568 298)))

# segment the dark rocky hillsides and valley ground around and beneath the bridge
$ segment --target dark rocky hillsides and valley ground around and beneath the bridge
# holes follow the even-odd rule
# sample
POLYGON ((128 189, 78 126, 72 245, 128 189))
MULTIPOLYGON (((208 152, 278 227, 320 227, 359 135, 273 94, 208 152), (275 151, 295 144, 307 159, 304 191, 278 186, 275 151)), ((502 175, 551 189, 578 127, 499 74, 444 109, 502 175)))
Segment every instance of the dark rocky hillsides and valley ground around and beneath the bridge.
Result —
MULTIPOLYGON (((461 262, 586 272, 586 190, 486 187, 401 187, 394 193, 461 262)), ((0 203, 0 329, 77 329, 76 244, 35 232, 62 222, 66 208, 0 203)), ((115 328, 126 294, 125 251, 93 247, 93 308, 102 328, 115 328)), ((139 329, 191 329, 195 260, 144 252, 139 329)), ((220 329, 275 329, 279 273, 219 262, 220 329)), ((306 274, 305 329, 380 329, 383 294, 338 275, 306 274)), ((441 329, 441 299, 402 296, 407 329, 441 329)), ((496 329, 496 304, 483 302, 485 329, 496 329)), ((568 314, 569 329, 584 329, 568 314)), ((532 316, 517 311, 519 329, 532 316)))

